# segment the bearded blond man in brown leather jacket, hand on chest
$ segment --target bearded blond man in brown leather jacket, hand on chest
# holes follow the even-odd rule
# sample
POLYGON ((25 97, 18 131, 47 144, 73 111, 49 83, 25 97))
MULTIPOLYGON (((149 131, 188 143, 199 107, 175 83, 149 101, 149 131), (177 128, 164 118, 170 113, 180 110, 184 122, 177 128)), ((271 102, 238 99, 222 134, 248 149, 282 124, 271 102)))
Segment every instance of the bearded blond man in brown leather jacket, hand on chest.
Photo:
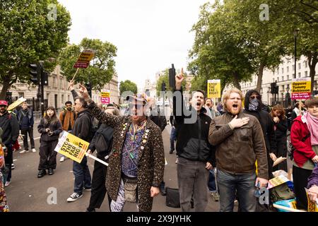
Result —
POLYGON ((237 88, 225 92, 225 114, 212 119, 208 133, 208 141, 216 145, 221 212, 233 211, 235 194, 243 212, 254 212, 257 204, 254 188, 257 184, 265 187, 269 178, 261 125, 257 118, 241 111, 242 98, 237 88))

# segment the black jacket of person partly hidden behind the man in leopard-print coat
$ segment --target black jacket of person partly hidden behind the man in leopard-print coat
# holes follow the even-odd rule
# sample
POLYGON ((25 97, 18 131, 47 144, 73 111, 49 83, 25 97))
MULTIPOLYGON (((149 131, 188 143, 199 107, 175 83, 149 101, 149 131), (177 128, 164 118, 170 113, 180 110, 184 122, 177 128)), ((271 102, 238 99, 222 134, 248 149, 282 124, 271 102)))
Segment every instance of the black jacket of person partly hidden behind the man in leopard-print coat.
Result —
POLYGON ((93 140, 90 142, 88 149, 93 153, 97 150, 100 155, 108 155, 112 150, 112 136, 114 129, 105 124, 101 124, 96 131, 93 140))

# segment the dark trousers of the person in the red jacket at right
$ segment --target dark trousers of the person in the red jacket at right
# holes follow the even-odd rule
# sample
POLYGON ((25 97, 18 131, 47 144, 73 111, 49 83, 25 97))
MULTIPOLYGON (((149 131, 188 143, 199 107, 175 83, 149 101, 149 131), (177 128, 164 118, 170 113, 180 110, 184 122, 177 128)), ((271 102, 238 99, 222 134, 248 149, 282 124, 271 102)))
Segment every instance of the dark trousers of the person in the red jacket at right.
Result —
POLYGON ((293 166, 294 193, 296 195, 298 209, 307 210, 308 208, 305 188, 307 188, 310 174, 312 174, 312 170, 293 166))

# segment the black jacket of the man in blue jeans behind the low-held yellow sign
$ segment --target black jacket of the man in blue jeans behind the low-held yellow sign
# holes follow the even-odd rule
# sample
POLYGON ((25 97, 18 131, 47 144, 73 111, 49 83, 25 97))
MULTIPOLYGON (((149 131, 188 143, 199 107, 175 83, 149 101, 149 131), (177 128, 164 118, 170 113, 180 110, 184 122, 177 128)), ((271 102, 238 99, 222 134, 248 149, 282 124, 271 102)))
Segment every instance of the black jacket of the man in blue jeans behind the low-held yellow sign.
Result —
POLYGON ((83 109, 82 112, 78 112, 75 120, 72 134, 81 138, 84 141, 90 142, 93 136, 92 133, 93 116, 88 109, 83 109))

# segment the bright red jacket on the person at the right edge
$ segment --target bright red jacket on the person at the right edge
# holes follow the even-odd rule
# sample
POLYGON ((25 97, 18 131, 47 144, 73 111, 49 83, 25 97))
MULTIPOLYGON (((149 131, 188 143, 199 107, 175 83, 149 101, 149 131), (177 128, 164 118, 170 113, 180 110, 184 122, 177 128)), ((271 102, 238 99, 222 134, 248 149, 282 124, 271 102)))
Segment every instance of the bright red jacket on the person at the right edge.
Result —
POLYGON ((302 142, 302 139, 310 133, 307 124, 302 120, 306 121, 305 117, 301 115, 295 118, 290 132, 290 141, 296 149, 293 154, 294 161, 299 167, 316 156, 316 153, 312 150, 310 137, 302 142))

